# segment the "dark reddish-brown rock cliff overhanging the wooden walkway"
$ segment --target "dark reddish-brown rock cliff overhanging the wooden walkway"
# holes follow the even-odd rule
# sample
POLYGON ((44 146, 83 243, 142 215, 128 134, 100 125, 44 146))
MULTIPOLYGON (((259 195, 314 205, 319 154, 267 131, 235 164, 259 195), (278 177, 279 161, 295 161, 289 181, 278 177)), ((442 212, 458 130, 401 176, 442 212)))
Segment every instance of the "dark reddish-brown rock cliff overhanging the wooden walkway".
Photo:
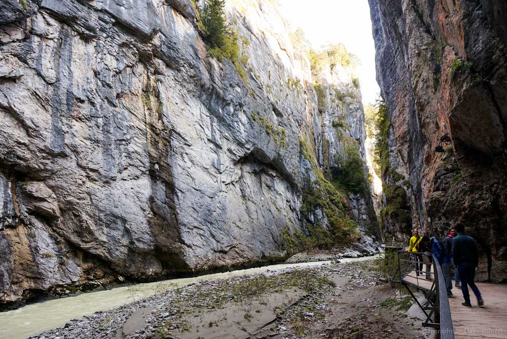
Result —
MULTIPOLYGON (((507 280, 507 3, 370 0, 389 166, 413 227, 464 223, 481 247, 480 279, 507 280), (450 143, 436 152, 441 137, 450 143)), ((384 214, 385 215, 385 214, 384 214)), ((384 218, 405 239, 407 220, 384 218)))

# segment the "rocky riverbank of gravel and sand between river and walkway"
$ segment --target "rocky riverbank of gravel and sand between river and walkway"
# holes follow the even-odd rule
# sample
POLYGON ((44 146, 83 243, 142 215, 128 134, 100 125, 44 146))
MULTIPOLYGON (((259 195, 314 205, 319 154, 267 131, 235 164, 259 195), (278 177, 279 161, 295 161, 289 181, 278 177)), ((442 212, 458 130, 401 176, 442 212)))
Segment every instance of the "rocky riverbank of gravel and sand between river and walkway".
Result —
POLYGON ((420 337, 420 321, 405 313, 410 300, 382 285, 373 265, 332 262, 180 288, 161 283, 154 296, 32 338, 420 337))

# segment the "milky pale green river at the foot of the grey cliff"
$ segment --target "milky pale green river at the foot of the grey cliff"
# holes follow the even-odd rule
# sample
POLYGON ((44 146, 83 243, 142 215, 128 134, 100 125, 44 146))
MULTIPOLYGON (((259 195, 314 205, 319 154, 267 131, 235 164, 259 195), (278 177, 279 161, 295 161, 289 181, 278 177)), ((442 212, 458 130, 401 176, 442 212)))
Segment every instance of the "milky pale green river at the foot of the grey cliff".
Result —
MULTIPOLYGON (((369 260, 374 257, 345 258, 340 262, 369 260)), ((289 267, 310 267, 329 264, 331 261, 278 264, 258 268, 238 269, 231 272, 209 274, 193 278, 170 279, 161 282, 116 287, 111 290, 83 293, 77 296, 29 304, 17 310, 0 313, 0 339, 24 339, 30 335, 61 327, 70 319, 90 316, 96 311, 107 311, 125 303, 139 300, 164 290, 186 286, 199 281, 211 281, 262 273, 289 267)))

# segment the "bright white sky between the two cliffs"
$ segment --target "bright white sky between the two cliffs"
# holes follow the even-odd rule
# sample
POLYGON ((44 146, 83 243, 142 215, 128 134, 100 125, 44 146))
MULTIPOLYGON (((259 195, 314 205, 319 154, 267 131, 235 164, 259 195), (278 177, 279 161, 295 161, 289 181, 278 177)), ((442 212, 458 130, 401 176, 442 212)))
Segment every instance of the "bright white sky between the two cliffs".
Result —
POLYGON ((279 12, 301 27, 313 49, 343 43, 361 60, 357 66, 363 103, 375 103, 380 93, 375 80, 375 45, 368 0, 278 0, 279 12))

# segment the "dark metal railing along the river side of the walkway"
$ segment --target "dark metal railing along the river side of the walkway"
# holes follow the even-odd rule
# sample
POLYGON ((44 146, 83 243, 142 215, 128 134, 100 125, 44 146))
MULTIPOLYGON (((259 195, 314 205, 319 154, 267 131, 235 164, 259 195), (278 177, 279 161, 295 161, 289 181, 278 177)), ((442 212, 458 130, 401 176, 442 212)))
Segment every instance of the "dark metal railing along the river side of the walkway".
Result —
POLYGON ((398 266, 401 284, 409 291, 426 316, 422 326, 436 329, 437 338, 453 339, 451 308, 444 274, 437 258, 427 253, 399 251, 398 266), (422 271, 422 265, 425 265, 425 271, 422 271), (424 304, 419 302, 409 286, 414 286, 424 293, 426 298, 424 304))

